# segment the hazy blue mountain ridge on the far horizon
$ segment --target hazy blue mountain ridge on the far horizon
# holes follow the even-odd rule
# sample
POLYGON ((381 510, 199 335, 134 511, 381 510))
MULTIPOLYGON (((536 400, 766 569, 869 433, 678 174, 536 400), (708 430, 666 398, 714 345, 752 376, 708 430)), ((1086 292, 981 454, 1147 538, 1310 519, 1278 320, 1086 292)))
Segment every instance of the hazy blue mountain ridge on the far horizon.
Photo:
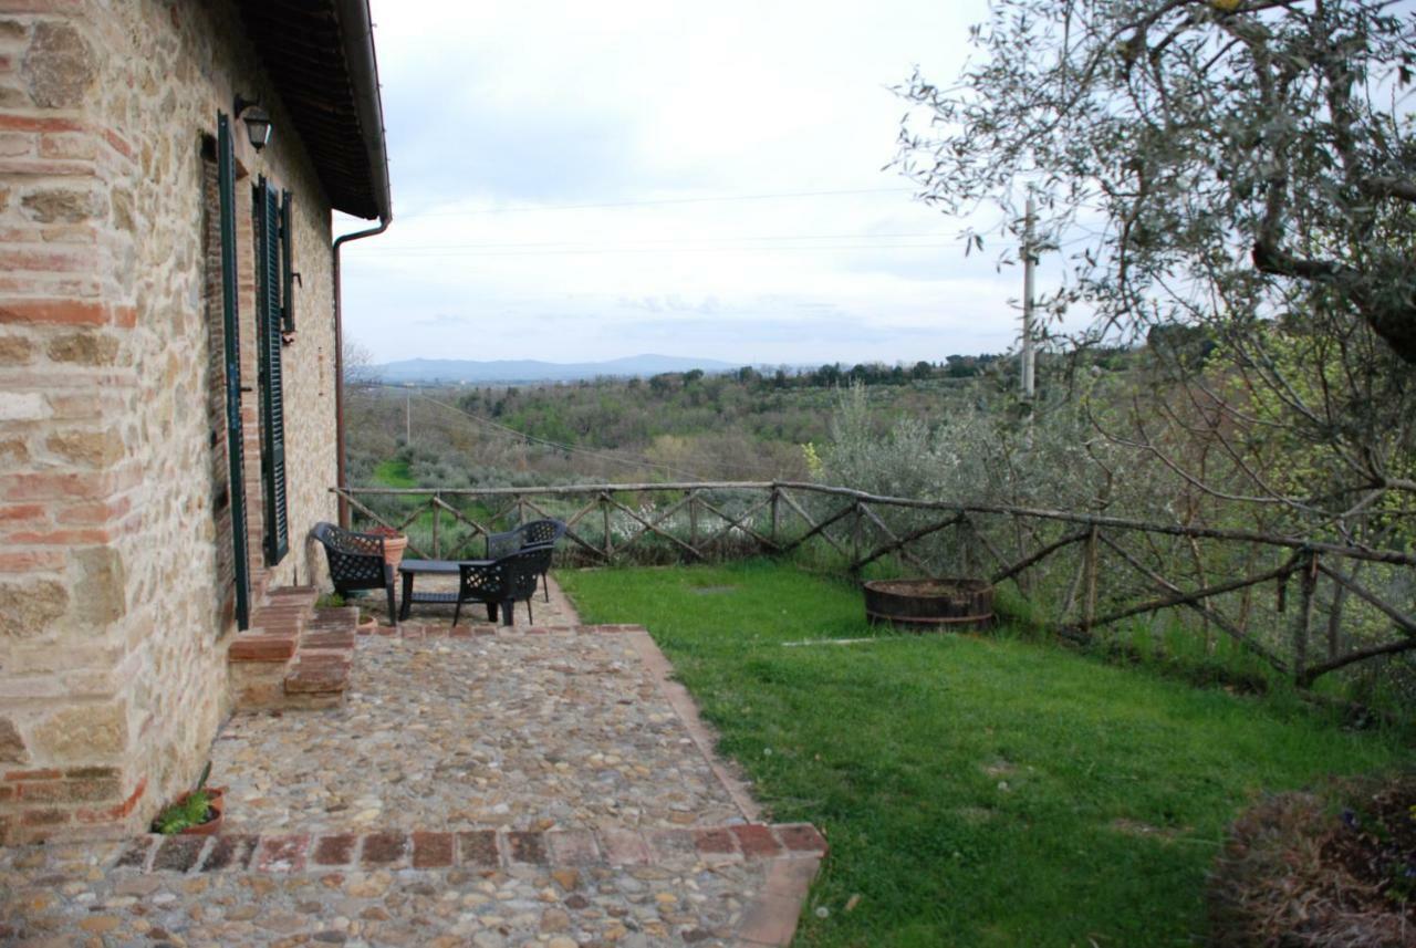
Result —
POLYGON ((605 362, 542 362, 538 359, 402 359, 371 366, 384 382, 578 382, 600 376, 641 376, 660 372, 731 372, 738 365, 678 355, 627 355, 605 362))

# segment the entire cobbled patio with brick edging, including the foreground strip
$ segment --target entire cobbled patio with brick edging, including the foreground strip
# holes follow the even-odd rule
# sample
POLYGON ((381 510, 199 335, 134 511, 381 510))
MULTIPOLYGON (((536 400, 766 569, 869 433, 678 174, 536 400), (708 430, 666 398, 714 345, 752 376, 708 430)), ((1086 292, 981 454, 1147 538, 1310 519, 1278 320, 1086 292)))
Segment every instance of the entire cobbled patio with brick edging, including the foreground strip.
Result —
POLYGON ((360 635, 344 707, 232 717, 219 836, 0 848, 0 945, 784 944, 824 840, 739 811, 552 597, 538 634, 360 635))

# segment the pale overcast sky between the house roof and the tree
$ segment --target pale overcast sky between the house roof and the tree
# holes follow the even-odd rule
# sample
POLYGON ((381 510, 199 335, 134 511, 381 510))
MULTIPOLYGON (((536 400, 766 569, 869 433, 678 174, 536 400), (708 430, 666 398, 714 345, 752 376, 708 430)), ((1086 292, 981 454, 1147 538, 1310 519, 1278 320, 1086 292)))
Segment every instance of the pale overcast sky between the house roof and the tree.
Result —
POLYGON ((1021 274, 882 170, 889 86, 952 81, 984 0, 372 10, 394 225, 346 245, 344 311, 375 362, 1014 344, 1021 274))

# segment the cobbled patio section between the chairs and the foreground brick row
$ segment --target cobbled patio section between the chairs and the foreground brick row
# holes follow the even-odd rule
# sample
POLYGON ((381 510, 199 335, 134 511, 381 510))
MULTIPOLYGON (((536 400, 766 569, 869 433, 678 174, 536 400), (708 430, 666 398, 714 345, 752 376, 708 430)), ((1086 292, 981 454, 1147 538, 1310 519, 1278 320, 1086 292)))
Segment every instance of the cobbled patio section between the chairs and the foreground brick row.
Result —
POLYGON ((624 637, 558 606, 535 603, 545 635, 524 611, 497 635, 450 637, 450 617, 362 635, 344 707, 232 717, 212 751, 227 829, 741 821, 624 637))

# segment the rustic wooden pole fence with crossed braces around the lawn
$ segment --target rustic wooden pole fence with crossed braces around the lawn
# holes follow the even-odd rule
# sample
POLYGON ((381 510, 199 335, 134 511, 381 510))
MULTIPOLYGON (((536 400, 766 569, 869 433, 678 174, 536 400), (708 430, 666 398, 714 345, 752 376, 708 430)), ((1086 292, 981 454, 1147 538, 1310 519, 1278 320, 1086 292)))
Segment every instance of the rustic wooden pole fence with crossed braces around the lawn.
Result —
POLYGON ((1206 649, 1225 635, 1301 686, 1416 649, 1416 555, 1405 550, 790 481, 334 491, 355 528, 399 529, 430 559, 480 556, 486 533, 554 516, 568 524, 566 565, 767 553, 854 576, 986 577, 1078 640, 1184 613, 1206 649))

